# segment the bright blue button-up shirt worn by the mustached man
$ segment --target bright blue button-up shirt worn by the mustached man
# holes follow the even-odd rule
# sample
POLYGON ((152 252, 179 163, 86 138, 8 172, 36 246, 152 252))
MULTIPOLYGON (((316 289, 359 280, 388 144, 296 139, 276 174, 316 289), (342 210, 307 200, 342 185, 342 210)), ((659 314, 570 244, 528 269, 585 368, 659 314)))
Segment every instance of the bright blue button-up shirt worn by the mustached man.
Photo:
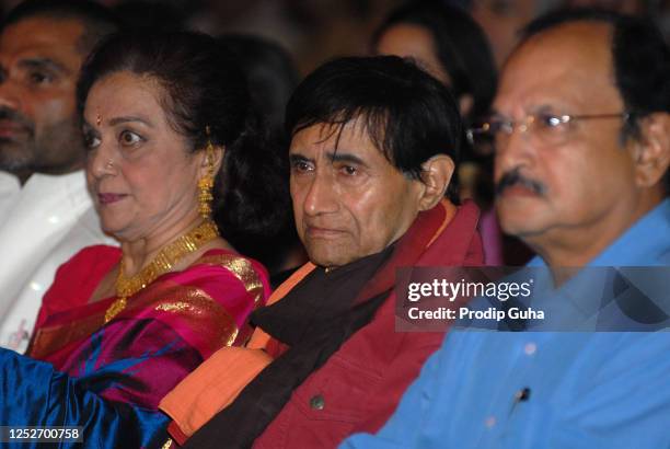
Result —
MULTIPOLYGON (((670 266, 670 200, 590 265, 670 266)), ((670 448, 670 333, 452 331, 379 434, 342 448, 670 448)))

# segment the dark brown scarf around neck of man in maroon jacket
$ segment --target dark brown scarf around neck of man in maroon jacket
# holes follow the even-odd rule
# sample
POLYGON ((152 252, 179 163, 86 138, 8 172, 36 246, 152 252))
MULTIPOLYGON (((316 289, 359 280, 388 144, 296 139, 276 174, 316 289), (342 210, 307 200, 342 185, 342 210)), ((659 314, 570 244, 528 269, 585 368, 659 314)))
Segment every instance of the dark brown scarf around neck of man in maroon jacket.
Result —
POLYGON ((372 320, 390 291, 355 301, 392 254, 392 246, 331 273, 314 269, 281 301, 257 310, 252 322, 289 346, 188 439, 184 448, 249 448, 281 412, 294 389, 372 320))

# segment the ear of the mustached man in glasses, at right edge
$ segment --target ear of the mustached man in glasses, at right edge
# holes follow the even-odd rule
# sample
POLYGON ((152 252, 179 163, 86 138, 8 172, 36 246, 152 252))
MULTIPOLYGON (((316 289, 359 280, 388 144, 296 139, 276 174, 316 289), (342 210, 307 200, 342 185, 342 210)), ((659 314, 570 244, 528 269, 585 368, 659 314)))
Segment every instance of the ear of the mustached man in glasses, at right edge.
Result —
POLYGON ((640 138, 634 148, 635 181, 639 187, 652 187, 670 165, 670 114, 654 113, 639 123, 640 138))

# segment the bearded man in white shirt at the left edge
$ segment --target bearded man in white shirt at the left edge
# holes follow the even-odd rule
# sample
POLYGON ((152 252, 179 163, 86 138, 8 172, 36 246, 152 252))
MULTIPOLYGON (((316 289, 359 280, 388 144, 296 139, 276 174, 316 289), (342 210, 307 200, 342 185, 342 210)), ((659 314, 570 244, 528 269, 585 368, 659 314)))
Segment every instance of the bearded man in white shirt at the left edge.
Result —
POLYGON ((25 350, 56 268, 109 242, 86 192, 76 87, 116 28, 95 3, 28 0, 0 32, 0 346, 25 350))

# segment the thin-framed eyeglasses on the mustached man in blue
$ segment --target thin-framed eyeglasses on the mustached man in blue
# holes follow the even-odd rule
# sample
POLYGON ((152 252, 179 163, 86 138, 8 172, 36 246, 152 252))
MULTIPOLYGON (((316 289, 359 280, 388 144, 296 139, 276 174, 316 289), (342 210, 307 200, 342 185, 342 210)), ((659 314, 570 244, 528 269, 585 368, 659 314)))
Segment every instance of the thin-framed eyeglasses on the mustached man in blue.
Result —
POLYGON ((466 135, 467 140, 477 153, 492 154, 507 147, 509 137, 515 133, 515 129, 518 129, 519 133, 528 133, 529 137, 535 139, 536 142, 558 147, 569 141, 570 124, 574 122, 612 118, 627 122, 631 117, 629 112, 589 115, 539 113, 529 114, 521 120, 510 120, 494 115, 480 126, 467 129, 466 135))

